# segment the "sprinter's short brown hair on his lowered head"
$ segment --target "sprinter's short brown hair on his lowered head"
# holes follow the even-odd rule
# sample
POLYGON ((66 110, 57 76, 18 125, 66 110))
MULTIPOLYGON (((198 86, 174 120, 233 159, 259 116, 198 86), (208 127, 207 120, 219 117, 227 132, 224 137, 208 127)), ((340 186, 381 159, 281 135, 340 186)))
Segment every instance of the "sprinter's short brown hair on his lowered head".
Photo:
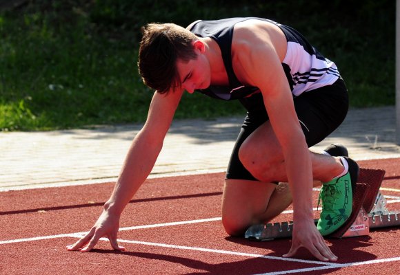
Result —
POLYGON ((197 36, 173 23, 150 23, 142 33, 138 66, 143 83, 160 94, 180 87, 177 59, 196 58, 192 41, 197 36))

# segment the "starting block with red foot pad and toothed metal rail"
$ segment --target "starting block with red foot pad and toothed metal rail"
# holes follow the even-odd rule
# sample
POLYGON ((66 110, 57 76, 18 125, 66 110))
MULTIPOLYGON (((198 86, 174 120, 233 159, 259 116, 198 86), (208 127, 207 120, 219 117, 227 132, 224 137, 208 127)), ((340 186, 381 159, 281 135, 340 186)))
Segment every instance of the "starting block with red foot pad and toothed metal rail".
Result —
MULTIPOLYGON (((341 228, 326 237, 366 236, 374 228, 400 225, 400 211, 389 211, 385 197, 379 192, 384 175, 384 170, 360 168, 353 197, 352 214, 341 228)), ((315 225, 317 225, 317 221, 317 219, 314 220, 315 225)), ((256 224, 248 228, 245 238, 255 241, 271 241, 290 238, 292 232, 293 221, 256 224)))

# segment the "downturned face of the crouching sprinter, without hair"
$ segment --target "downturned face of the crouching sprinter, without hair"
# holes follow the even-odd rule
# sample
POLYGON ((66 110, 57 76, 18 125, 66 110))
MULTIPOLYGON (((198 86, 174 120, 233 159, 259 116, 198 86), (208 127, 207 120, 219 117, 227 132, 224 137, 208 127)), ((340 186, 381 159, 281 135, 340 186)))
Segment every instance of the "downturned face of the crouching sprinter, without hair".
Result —
MULTIPOLYGON (((201 43, 201 42, 200 42, 201 43)), ((194 47, 197 53, 197 58, 185 63, 181 60, 177 61, 177 69, 179 80, 183 89, 192 94, 196 89, 206 89, 210 86, 210 63, 204 54, 202 45, 194 47)))

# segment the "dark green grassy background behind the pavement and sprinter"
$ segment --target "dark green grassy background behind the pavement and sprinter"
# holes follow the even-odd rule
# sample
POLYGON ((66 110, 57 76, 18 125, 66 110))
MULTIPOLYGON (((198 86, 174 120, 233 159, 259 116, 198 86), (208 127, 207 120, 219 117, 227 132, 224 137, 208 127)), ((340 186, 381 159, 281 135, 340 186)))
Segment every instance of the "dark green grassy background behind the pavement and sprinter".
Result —
MULTIPOLYGON (((137 73, 137 48, 140 27, 150 21, 255 16, 292 25, 337 63, 352 107, 394 104, 392 2, 29 1, 0 11, 0 129, 146 120, 152 91, 137 73)), ((239 102, 194 94, 184 96, 176 117, 242 113, 239 102)))

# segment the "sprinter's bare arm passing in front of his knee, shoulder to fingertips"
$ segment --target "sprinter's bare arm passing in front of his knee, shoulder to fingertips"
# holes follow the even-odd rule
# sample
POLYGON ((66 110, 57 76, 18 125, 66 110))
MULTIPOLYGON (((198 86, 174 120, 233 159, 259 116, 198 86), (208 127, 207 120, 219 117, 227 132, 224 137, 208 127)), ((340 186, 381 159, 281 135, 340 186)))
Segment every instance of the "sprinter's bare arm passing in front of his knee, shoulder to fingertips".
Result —
POLYGON ((289 254, 292 256, 297 248, 304 246, 321 261, 327 261, 329 248, 313 221, 310 152, 277 50, 272 42, 256 36, 241 45, 235 58, 243 72, 242 80, 261 90, 272 129, 283 151, 294 208, 295 228, 290 250, 293 253, 289 254))

